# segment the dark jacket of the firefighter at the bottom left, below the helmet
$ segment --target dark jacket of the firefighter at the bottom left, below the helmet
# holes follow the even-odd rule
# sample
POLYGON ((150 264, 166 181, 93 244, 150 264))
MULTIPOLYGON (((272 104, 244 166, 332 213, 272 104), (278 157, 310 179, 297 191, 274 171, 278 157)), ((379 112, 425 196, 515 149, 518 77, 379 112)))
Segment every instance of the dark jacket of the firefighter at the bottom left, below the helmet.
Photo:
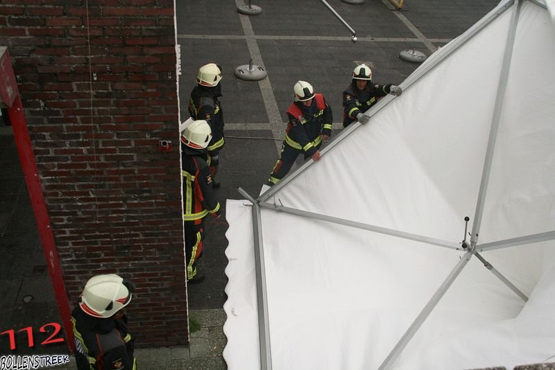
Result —
POLYGON ((133 370, 134 339, 127 317, 104 319, 87 315, 79 306, 71 312, 78 370, 133 370))

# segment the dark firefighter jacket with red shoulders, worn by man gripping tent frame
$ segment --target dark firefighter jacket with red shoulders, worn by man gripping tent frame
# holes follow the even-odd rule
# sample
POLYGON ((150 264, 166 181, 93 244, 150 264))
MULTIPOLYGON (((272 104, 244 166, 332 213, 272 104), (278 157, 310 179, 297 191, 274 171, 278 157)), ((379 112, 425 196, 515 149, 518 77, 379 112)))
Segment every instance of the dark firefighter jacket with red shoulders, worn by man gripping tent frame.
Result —
POLYGON ((322 142, 321 134, 332 136, 332 108, 322 94, 315 94, 310 107, 305 107, 302 102, 291 104, 287 109, 287 118, 285 143, 302 150, 307 156, 318 150, 322 142))

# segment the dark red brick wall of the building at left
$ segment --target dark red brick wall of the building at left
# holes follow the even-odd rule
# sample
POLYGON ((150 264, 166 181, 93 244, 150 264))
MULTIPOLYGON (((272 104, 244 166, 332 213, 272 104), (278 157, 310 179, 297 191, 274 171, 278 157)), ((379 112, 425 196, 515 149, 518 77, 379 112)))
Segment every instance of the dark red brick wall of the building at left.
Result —
POLYGON ((173 15, 173 0, 0 2, 70 303, 94 274, 131 276, 142 346, 187 343, 173 15))

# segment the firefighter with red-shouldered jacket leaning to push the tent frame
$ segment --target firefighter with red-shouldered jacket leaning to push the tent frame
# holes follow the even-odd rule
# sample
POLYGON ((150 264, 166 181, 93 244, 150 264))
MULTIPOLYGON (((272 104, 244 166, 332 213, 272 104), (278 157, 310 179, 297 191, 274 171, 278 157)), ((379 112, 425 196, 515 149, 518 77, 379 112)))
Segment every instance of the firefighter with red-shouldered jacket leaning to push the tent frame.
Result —
POLYGON ((287 109, 287 129, 280 151, 267 184, 273 186, 289 173, 291 166, 302 153, 305 159, 320 159, 322 141, 332 135, 332 108, 322 94, 314 94, 309 82, 298 81, 293 87, 294 102, 287 109))

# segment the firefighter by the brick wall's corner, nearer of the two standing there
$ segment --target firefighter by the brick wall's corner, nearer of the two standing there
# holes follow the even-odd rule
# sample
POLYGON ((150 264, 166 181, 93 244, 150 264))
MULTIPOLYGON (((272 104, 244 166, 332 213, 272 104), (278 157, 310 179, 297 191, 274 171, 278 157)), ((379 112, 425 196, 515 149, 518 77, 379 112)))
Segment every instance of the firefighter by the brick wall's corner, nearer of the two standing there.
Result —
POLYGON ((196 271, 196 261, 203 253, 205 217, 208 214, 220 217, 220 203, 216 199, 214 180, 207 164, 207 146, 211 139, 212 131, 205 120, 193 121, 181 135, 183 226, 189 283, 204 280, 204 276, 196 271))

